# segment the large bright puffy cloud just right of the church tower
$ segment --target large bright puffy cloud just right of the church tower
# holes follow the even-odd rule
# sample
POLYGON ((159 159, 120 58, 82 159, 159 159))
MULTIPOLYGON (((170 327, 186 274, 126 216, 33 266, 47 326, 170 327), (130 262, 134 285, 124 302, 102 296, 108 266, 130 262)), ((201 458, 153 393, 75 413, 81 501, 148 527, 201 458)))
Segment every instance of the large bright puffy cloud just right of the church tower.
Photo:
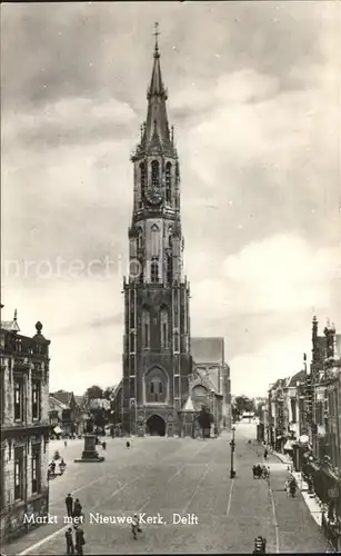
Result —
POLYGON ((284 235, 251 242, 222 262, 202 255, 192 280, 195 316, 219 320, 268 311, 333 312, 330 290, 337 255, 337 249, 314 249, 303 238, 284 235))

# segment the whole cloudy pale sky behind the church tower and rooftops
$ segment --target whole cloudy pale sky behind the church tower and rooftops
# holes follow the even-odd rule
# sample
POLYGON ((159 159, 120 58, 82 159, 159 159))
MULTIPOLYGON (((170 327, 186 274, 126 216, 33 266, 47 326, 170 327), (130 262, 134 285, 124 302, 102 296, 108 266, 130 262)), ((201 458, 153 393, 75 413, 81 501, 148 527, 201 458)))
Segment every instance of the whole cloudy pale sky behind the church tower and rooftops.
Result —
POLYGON ((117 384, 130 152, 160 23, 181 160, 193 336, 223 336, 232 391, 264 394, 341 330, 338 2, 8 3, 4 318, 43 322, 51 389, 117 384))

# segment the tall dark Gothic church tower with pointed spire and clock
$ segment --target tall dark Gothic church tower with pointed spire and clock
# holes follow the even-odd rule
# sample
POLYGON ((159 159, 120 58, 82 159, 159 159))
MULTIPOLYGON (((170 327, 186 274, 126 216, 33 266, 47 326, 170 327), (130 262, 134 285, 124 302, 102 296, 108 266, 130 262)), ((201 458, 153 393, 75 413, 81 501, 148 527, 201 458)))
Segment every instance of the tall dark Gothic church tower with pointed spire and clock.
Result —
POLYGON ((189 396, 190 290, 182 269, 180 168, 167 115, 158 24, 147 120, 133 163, 129 277, 124 278, 122 427, 179 434, 189 396))

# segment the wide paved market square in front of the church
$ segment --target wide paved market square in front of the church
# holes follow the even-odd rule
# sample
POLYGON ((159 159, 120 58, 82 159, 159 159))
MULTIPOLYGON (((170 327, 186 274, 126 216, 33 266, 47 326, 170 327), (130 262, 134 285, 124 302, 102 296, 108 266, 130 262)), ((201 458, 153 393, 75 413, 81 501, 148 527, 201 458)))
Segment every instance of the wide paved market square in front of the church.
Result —
POLYGON ((130 449, 124 439, 109 439, 102 464, 73 463, 82 449, 78 440, 60 445, 67 471, 50 483, 50 513, 58 524, 39 527, 3 552, 63 554, 69 492, 83 506, 84 554, 250 553, 258 535, 267 538, 269 553, 324 552, 322 532, 301 495, 287 498, 287 466, 270 457, 273 502, 267 481, 253 479, 251 467, 261 460, 260 449, 247 444, 253 431, 237 427, 233 480, 228 434, 208 440, 133 438, 130 449), (143 525, 138 540, 129 524, 90 523, 90 513, 118 517, 136 512, 143 519, 160 515, 164 523, 143 525), (173 514, 189 522, 195 516, 198 525, 173 524, 173 514))

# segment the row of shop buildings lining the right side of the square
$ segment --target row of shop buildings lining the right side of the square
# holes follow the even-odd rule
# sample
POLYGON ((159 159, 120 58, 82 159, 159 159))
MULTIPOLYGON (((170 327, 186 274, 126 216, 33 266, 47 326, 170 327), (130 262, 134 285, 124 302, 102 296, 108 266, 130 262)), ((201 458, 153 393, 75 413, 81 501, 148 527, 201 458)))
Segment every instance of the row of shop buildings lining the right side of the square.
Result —
POLYGON ((341 335, 328 324, 319 335, 312 321, 312 360, 303 369, 270 385, 258 438, 292 457, 293 467, 310 477, 328 506, 329 536, 341 536, 341 335))

